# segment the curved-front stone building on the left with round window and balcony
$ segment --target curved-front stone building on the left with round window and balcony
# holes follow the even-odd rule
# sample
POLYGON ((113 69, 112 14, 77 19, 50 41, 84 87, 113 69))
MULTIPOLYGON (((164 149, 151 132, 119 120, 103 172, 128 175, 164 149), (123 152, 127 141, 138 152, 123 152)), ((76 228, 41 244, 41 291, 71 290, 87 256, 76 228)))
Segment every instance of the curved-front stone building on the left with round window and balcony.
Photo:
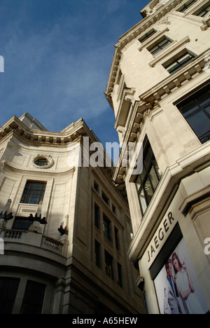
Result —
POLYGON ((3 314, 146 313, 127 203, 112 167, 78 165, 84 137, 99 142, 83 119, 48 132, 25 114, 0 129, 3 314))

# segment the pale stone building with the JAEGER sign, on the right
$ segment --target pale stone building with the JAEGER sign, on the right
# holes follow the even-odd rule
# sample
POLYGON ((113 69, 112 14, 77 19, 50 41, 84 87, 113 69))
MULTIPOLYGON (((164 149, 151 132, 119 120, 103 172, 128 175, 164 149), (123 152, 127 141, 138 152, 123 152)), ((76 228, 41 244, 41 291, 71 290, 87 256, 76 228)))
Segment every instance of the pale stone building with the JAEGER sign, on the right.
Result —
POLYGON ((210 1, 153 0, 141 15, 105 91, 120 142, 143 146, 139 175, 122 154, 113 175, 130 205, 128 254, 148 313, 208 313, 210 1))

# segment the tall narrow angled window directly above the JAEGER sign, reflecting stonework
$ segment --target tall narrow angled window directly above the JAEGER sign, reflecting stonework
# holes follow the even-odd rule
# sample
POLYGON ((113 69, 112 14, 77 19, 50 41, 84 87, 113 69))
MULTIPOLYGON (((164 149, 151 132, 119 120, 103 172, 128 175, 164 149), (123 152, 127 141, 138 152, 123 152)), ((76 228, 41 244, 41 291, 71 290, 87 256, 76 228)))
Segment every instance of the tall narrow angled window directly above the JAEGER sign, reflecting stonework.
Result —
POLYGON ((160 172, 158 163, 155 160, 153 150, 148 142, 144 151, 143 170, 135 181, 142 215, 144 215, 149 203, 151 203, 151 199, 153 198, 153 194, 159 182, 160 172))

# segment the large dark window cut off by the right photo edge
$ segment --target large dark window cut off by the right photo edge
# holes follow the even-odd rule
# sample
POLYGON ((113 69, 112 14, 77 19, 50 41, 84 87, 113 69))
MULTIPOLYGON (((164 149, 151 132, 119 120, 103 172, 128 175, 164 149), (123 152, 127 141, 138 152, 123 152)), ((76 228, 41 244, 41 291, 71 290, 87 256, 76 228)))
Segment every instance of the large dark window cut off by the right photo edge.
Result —
POLYGON ((209 86, 176 105, 193 129, 200 142, 210 140, 210 90, 209 86))

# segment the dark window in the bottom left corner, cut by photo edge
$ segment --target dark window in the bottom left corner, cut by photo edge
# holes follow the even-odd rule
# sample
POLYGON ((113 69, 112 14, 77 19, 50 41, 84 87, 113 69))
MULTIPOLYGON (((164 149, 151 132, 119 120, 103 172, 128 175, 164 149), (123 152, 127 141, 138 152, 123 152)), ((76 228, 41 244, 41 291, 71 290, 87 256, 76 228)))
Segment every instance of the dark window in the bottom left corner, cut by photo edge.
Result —
POLYGON ((20 279, 0 277, 0 314, 12 314, 20 279))

